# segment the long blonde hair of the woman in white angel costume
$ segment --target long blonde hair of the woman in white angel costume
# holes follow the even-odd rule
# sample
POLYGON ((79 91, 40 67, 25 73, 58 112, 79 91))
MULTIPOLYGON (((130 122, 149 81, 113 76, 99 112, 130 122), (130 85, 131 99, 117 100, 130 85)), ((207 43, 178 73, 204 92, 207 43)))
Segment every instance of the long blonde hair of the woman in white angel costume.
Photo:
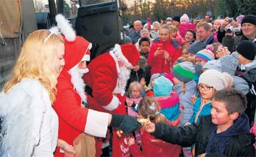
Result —
POLYGON ((54 63, 57 59, 57 46, 61 43, 64 44, 64 40, 61 36, 52 34, 44 42, 49 34, 48 30, 38 30, 27 37, 10 79, 3 87, 5 93, 24 78, 38 79, 49 93, 49 99, 53 103, 57 84, 54 63))

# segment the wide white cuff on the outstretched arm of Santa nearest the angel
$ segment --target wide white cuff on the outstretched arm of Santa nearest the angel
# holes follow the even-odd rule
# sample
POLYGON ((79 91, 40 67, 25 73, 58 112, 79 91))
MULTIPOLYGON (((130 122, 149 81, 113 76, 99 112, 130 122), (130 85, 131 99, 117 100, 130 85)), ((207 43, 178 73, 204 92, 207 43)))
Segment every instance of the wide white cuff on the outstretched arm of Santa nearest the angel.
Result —
POLYGON ((85 133, 95 137, 106 137, 109 114, 95 110, 88 110, 85 133))

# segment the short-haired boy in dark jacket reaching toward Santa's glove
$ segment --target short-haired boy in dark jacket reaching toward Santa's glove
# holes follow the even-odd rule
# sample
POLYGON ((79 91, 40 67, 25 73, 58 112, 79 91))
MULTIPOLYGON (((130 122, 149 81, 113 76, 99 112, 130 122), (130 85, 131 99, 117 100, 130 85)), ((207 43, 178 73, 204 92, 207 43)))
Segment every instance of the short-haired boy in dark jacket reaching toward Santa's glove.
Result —
POLYGON ((224 89, 214 94, 211 115, 200 117, 197 123, 174 127, 151 122, 143 128, 166 142, 195 144, 195 156, 255 156, 255 136, 249 133, 245 109, 246 97, 241 91, 224 89))

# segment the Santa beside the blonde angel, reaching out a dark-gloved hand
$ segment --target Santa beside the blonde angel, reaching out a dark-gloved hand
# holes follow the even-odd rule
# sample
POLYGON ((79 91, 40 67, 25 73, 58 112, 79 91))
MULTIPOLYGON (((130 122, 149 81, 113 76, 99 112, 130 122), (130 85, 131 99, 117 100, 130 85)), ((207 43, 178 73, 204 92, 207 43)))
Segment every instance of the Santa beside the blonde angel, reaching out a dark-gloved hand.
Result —
MULTIPOLYGON (((53 105, 59 116, 59 138, 73 145, 74 139, 80 134, 84 135, 84 132, 96 137, 105 137, 108 126, 120 127, 123 132, 130 132, 131 130, 126 130, 123 125, 120 126, 119 122, 119 125, 116 123, 117 119, 119 121, 119 118, 127 115, 111 115, 84 108, 82 102, 86 102, 85 84, 81 77, 89 71, 86 68, 86 61, 90 60, 89 49, 92 45, 80 36, 76 36, 74 42, 65 40, 64 44, 65 66, 58 78, 56 100, 53 105)), ((134 121, 135 119, 131 120, 132 123, 134 121)), ((134 126, 136 125, 137 122, 134 123, 134 126)), ((55 156, 64 156, 60 148, 57 148, 55 156)))

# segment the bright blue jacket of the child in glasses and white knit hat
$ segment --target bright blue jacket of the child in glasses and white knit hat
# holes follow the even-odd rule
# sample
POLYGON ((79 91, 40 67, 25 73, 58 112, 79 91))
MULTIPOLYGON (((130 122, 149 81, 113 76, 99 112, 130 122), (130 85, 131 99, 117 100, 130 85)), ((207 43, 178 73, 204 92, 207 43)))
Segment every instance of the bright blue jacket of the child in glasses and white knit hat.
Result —
POLYGON ((202 115, 210 115, 210 110, 212 109, 212 102, 209 102, 207 104, 205 104, 203 106, 203 108, 200 110, 200 106, 201 106, 201 97, 197 98, 194 107, 193 107, 193 115, 192 117, 189 119, 189 123, 196 123, 197 121, 199 121, 199 117, 201 117, 202 115), (196 114, 199 113, 199 117, 197 118, 196 121, 196 114))

